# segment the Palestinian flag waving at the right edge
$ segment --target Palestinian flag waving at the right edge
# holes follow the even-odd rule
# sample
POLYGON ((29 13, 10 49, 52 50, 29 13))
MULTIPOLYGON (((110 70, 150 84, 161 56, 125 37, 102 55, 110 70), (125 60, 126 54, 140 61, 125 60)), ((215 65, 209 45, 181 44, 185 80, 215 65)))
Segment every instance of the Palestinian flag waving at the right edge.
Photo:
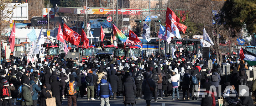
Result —
POLYGON ((241 58, 241 60, 247 62, 248 65, 256 65, 256 55, 249 51, 246 51, 244 48, 240 49, 239 57, 241 58))

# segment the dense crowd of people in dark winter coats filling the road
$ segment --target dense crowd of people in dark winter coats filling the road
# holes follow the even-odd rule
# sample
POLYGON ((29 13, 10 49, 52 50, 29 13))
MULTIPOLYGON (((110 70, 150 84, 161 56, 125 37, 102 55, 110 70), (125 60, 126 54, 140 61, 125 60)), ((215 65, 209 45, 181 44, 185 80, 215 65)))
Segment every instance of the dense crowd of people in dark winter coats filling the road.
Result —
MULTIPOLYGON (((171 96, 173 100, 198 100, 200 88, 207 94, 201 106, 215 106, 221 96, 225 106, 252 106, 252 92, 256 89, 254 66, 233 56, 223 56, 222 64, 212 59, 196 58, 189 52, 179 53, 174 59, 169 56, 151 54, 134 60, 113 57, 104 59, 78 60, 78 58, 55 58, 41 60, 36 64, 25 58, 1 59, 0 105, 46 106, 47 98, 55 97, 56 104, 68 100, 68 106, 77 106, 77 97, 87 100, 100 99, 100 106, 110 106, 109 100, 123 96, 125 106, 136 106, 136 99, 143 98, 146 105, 151 100, 171 96), (166 59, 167 58, 167 59, 166 59), (194 60, 194 61, 192 61, 194 60), (229 64, 231 74, 223 74, 223 65, 229 64), (219 85, 222 85, 219 88, 219 85), (247 85, 249 96, 239 85, 247 85), (211 91, 215 86, 216 91, 211 91), (225 89, 226 86, 232 86, 225 89), (219 91, 221 89, 221 91, 219 91), (180 98, 179 91, 182 91, 180 98), (235 97, 227 95, 235 94, 235 97), (239 95, 239 96, 238 96, 239 95), (17 101, 16 101, 17 100, 17 101)), ((202 91, 201 91, 202 92, 202 91)))

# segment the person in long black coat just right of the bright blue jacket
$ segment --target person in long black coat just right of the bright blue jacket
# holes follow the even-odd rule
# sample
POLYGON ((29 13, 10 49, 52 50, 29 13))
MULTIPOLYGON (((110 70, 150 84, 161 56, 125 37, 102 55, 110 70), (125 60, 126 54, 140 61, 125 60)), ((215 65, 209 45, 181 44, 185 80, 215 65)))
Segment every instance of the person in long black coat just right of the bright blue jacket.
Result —
MULTIPOLYGON (((116 99, 116 92, 117 92, 117 82, 119 78, 116 74, 116 71, 111 71, 111 75, 109 76, 109 83, 111 84, 112 92, 114 92, 114 99, 116 99)), ((109 97, 111 98, 111 96, 109 97)))

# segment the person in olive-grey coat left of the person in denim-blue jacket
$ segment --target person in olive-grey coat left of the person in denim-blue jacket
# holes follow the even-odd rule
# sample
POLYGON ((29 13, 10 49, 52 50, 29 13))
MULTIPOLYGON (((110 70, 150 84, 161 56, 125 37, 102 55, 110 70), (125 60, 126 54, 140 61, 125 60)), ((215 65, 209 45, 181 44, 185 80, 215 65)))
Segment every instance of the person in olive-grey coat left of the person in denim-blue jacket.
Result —
MULTIPOLYGON (((25 75, 27 76, 27 75, 25 75)), ((30 81, 29 79, 22 78, 22 92, 21 92, 21 106, 32 106, 33 105, 33 100, 31 96, 31 91, 30 91, 30 81)))

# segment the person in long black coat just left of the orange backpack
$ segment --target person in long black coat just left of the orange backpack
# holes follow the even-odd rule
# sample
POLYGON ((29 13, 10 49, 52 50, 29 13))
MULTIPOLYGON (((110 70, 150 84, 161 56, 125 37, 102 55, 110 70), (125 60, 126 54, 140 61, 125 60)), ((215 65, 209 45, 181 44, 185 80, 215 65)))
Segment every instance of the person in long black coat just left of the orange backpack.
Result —
POLYGON ((57 76, 52 76, 52 83, 51 83, 51 91, 52 91, 52 97, 56 98, 56 103, 58 106, 61 106, 61 100, 60 100, 60 87, 63 85, 63 83, 57 82, 57 76))

